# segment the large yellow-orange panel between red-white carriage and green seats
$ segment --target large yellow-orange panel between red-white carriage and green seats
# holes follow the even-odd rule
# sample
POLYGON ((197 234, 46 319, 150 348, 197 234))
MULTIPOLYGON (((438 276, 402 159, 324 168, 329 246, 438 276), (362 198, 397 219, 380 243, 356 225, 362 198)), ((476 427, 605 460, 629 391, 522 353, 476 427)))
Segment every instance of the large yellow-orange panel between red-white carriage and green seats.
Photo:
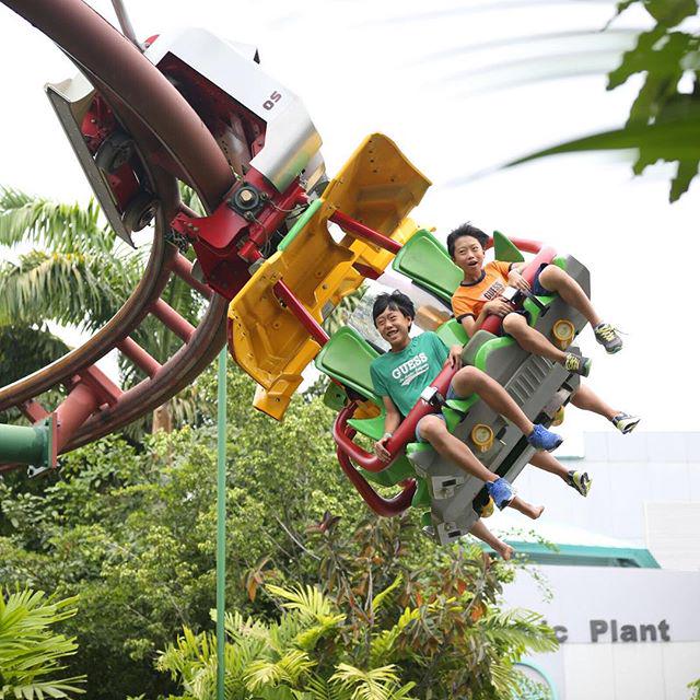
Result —
POLYGON ((340 210, 405 243, 418 230, 406 214, 429 186, 393 141, 377 133, 368 137, 329 183, 313 214, 290 232, 233 299, 230 348, 236 363, 259 384, 256 408, 281 420, 302 371, 320 350, 277 298, 275 284, 283 280, 322 323, 364 280, 355 265, 381 273, 393 257, 349 235, 336 243, 328 218, 340 210))

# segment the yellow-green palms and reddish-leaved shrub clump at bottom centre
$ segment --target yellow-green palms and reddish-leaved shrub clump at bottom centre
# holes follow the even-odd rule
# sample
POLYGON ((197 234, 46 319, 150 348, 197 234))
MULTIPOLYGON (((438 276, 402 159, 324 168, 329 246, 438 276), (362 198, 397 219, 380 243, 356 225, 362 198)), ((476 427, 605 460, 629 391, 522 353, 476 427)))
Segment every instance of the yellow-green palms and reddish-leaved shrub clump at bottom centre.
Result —
MULTIPOLYGON (((498 609, 502 564, 455 548, 416 570, 395 546, 410 541, 407 522, 371 518, 350 536, 338 522, 311 528, 316 585, 266 585, 272 619, 226 615, 229 700, 502 698, 528 688, 516 662, 557 642, 538 615, 498 609)), ((186 628, 161 653, 183 698, 214 697, 215 645, 213 633, 186 628)))

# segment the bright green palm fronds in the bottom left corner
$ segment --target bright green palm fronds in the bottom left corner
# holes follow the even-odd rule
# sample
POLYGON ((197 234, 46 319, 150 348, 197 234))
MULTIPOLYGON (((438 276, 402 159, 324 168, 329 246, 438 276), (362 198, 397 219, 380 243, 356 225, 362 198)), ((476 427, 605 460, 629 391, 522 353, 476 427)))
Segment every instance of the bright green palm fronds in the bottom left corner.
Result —
POLYGON ((0 587, 0 700, 83 692, 81 677, 57 678, 75 642, 51 627, 75 615, 75 598, 47 599, 42 591, 8 593, 0 587))

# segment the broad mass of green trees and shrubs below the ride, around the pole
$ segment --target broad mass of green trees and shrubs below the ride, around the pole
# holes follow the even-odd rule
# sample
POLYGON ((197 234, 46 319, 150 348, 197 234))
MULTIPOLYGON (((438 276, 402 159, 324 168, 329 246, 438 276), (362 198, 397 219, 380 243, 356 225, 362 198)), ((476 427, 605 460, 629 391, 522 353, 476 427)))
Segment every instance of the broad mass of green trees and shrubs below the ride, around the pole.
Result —
MULTIPOLYGON (((200 658, 214 653, 211 640, 202 641, 215 605, 213 370, 200 390, 197 429, 159 433, 138 447, 101 440, 67 455, 59 474, 32 488, 16 475, 0 480, 0 580, 80 595, 80 611, 61 632, 80 644, 69 673, 86 675, 89 698, 175 693, 172 676, 153 664, 184 628, 185 639, 197 640, 197 654, 187 652, 194 666, 168 674, 186 697, 196 679, 213 682, 200 658)), ((368 515, 338 469, 325 429, 332 415, 319 399, 295 397, 276 423, 250 408, 253 390, 231 369, 228 634, 234 645, 236 634, 271 634, 265 652, 248 660, 260 663, 245 684, 279 686, 298 663, 313 662, 289 689, 298 692, 291 700, 362 697, 371 679, 331 680, 340 664, 361 674, 390 666, 400 679, 392 692, 412 682, 416 698, 429 689, 432 700, 467 690, 495 698, 516 684, 513 664, 524 650, 553 648, 535 616, 499 611, 512 567, 477 548, 438 548, 410 513, 368 515)), ((232 664, 237 657, 231 652, 232 664)))

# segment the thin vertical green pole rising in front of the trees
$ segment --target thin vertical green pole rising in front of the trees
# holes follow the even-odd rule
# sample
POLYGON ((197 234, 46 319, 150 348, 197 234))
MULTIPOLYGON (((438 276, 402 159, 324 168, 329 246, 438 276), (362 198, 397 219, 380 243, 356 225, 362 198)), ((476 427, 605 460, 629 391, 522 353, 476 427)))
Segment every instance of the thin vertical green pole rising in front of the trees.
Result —
POLYGON ((217 700, 224 700, 224 614, 226 609, 226 347, 219 353, 217 467, 217 700))

